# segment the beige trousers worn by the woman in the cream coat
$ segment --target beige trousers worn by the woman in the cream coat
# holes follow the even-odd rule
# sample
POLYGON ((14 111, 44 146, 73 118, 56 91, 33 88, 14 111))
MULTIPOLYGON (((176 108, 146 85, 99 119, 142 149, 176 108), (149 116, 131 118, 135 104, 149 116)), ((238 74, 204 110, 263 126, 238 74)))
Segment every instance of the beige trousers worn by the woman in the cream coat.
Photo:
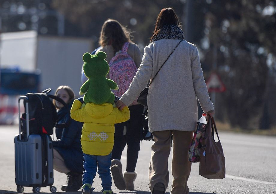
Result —
POLYGON ((152 132, 154 143, 149 165, 149 188, 153 191, 156 183, 169 184, 168 158, 170 155, 171 135, 173 134, 172 175, 173 187, 171 194, 188 194, 187 181, 191 172, 188 160, 188 147, 193 132, 189 131, 156 131, 152 132))

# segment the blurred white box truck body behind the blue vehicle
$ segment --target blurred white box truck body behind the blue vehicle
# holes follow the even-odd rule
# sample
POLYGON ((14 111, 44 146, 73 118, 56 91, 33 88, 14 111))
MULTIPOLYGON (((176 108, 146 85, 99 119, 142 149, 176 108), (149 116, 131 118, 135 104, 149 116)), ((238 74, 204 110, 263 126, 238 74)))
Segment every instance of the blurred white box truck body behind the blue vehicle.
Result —
POLYGON ((93 50, 91 38, 38 35, 36 31, 1 34, 0 67, 41 72, 40 89, 68 85, 78 96, 82 55, 93 50))

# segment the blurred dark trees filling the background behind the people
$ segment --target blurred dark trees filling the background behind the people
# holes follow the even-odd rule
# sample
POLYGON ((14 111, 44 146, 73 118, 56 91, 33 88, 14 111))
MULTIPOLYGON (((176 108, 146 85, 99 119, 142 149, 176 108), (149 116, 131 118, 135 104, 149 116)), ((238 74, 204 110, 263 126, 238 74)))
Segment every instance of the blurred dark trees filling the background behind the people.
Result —
POLYGON ((2 32, 91 37, 117 19, 133 41, 149 44, 163 7, 178 14, 186 40, 199 49, 205 80, 211 72, 226 86, 216 95, 216 118, 243 129, 275 127, 275 0, 0 0, 2 32))

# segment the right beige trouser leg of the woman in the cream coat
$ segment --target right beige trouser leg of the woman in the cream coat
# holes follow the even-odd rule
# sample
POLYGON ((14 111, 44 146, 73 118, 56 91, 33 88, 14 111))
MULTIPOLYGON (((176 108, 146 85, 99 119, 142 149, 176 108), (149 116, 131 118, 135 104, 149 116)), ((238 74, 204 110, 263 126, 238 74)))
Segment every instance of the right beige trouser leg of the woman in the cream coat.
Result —
POLYGON ((193 132, 173 130, 173 187, 171 194, 188 194, 187 181, 191 172, 191 162, 188 160, 189 145, 193 132))

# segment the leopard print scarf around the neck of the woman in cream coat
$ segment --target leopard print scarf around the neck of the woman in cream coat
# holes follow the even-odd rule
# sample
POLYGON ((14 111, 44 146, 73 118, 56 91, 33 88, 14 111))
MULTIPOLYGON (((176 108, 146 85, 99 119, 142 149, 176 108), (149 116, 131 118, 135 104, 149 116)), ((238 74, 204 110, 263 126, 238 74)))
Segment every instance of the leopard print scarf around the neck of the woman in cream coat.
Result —
POLYGON ((177 39, 177 40, 185 40, 184 32, 179 26, 176 25, 164 25, 161 31, 157 34, 157 36, 153 37, 151 42, 160 39, 177 39))

